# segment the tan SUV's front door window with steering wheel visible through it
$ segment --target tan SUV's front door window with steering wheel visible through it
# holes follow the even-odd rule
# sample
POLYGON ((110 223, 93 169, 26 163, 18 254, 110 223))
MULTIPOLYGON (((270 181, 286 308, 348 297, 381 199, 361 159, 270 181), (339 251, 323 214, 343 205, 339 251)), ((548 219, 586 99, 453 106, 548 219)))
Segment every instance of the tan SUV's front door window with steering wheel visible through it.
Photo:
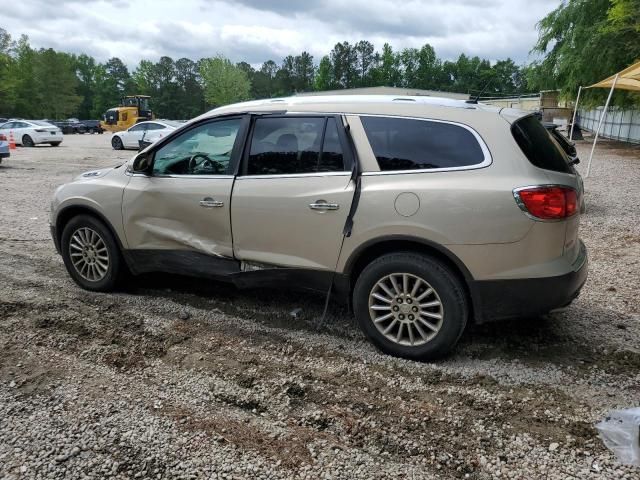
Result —
POLYGON ((226 174, 241 123, 234 118, 187 130, 155 153, 152 174, 226 174))

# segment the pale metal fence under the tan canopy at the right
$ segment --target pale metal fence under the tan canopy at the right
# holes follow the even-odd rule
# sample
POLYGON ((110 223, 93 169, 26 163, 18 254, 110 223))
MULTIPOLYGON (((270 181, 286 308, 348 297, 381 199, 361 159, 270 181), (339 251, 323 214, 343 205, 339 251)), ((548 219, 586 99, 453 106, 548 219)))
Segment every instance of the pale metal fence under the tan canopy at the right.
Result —
MULTIPOLYGON (((576 125, 584 130, 595 132, 598 128, 602 109, 578 110, 576 125)), ((610 107, 604 117, 600 136, 622 142, 640 143, 640 110, 623 110, 610 107)))

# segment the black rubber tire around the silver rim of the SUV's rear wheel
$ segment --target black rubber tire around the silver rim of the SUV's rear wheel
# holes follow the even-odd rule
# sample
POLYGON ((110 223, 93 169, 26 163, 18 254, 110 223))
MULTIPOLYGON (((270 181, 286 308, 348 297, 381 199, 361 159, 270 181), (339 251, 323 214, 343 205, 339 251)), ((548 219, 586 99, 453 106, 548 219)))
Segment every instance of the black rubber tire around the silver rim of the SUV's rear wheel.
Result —
MULTIPOLYGON (((425 290, 426 288, 419 292, 425 290)), ((417 296, 419 296, 418 293, 414 295, 414 297, 417 296)), ((417 301, 420 303, 420 300, 417 301)), ((394 305, 394 309, 397 308, 394 303, 391 304, 394 305)), ((462 336, 469 316, 467 296, 458 276, 443 262, 413 252, 384 255, 367 265, 358 277, 353 290, 353 309, 360 328, 376 347, 390 355, 412 360, 433 360, 449 353, 462 336), (416 277, 426 282, 427 287, 430 286, 435 291, 441 305, 438 308, 442 309, 442 320, 437 333, 421 345, 403 345, 387 338, 383 332, 378 330, 373 321, 372 315, 376 313, 370 313, 369 310, 369 296, 373 292, 374 286, 388 275, 404 273, 410 275, 411 282, 414 282, 416 277)), ((408 314, 410 313, 408 312, 408 314)), ((383 313, 379 315, 382 316, 383 313)), ((379 324, 386 327, 393 321, 393 318, 396 317, 388 320, 389 323, 380 322, 379 324)), ((400 323, 402 322, 398 321, 396 325, 400 323)), ((418 322, 413 322, 413 324, 415 323, 418 322)), ((420 326, 423 331, 433 335, 432 332, 424 328, 423 324, 420 326)), ((400 331, 406 332, 408 336, 409 327, 405 325, 402 328, 403 330, 400 331)), ((416 332, 415 327, 412 327, 413 332, 416 332)))

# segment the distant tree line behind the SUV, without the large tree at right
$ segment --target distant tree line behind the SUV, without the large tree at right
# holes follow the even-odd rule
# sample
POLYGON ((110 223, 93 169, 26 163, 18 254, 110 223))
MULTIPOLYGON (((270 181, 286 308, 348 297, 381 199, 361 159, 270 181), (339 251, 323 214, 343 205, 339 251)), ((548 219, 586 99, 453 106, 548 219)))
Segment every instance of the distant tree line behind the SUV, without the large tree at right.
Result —
POLYGON ((382 51, 372 43, 341 42, 316 64, 308 52, 255 68, 223 56, 157 62, 142 60, 131 71, 119 58, 104 63, 86 54, 34 49, 26 36, 14 41, 0 29, 0 116, 99 118, 123 95, 151 95, 161 118, 192 118, 235 101, 296 92, 369 86, 397 86, 460 93, 510 94, 526 91, 522 69, 511 59, 461 54, 441 60, 430 45, 382 51))

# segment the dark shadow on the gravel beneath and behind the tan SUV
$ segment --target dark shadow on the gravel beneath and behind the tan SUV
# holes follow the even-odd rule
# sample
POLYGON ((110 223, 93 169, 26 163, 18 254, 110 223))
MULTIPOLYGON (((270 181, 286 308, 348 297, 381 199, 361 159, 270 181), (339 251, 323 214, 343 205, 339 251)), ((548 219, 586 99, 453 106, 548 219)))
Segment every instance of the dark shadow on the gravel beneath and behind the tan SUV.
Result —
MULTIPOLYGON (((269 328, 307 331, 360 342, 363 334, 347 305, 330 298, 325 314, 326 296, 282 288, 238 289, 230 283, 202 280, 170 274, 145 274, 134 277, 125 291, 132 295, 170 299, 185 311, 197 316, 198 310, 214 311, 257 321, 269 328)), ((597 309, 596 309, 597 310, 597 309)), ((640 359, 621 360, 622 354, 611 349, 603 353, 580 334, 584 328, 581 315, 600 318, 603 335, 620 327, 620 314, 610 310, 588 312, 569 307, 563 313, 534 318, 517 318, 470 323, 452 356, 476 360, 517 361, 531 366, 554 364, 589 368, 596 362, 626 368, 640 359), (620 363, 622 362, 622 363, 620 363)), ((632 319, 629 319, 632 321, 632 319)), ((602 346, 601 346, 602 347, 602 346)), ((629 352, 624 355, 628 357, 629 352)), ((451 357, 449 357, 451 358, 451 357)))

